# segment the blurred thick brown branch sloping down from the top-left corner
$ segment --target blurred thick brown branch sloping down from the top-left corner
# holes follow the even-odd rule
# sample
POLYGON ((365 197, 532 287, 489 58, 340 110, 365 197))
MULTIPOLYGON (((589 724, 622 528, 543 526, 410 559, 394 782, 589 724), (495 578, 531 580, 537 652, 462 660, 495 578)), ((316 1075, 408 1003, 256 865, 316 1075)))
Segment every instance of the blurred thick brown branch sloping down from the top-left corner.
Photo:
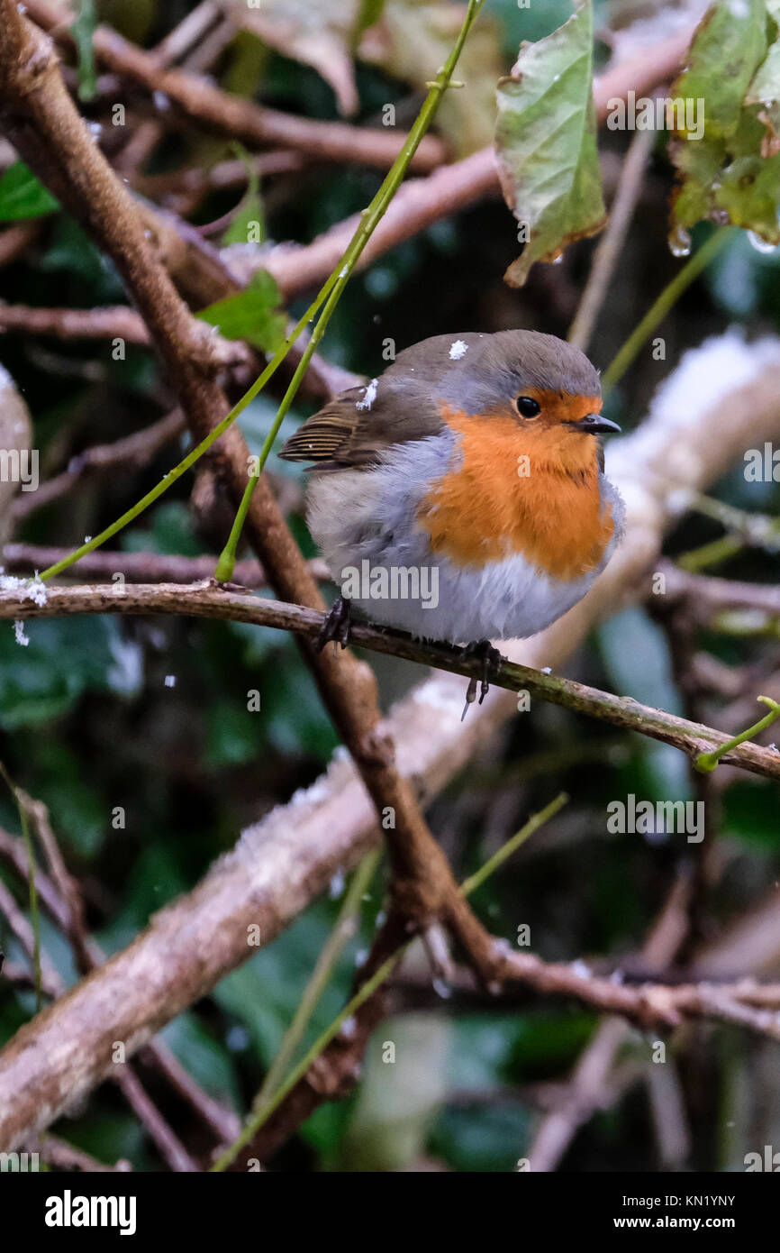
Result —
MULTIPOLYGON (((30 16, 59 41, 71 43, 63 10, 49 0, 30 0, 30 16)), ((100 25, 93 35, 95 55, 116 74, 140 83, 148 91, 162 91, 187 117, 209 130, 244 143, 293 148, 297 152, 347 164, 373 165, 389 169, 406 140, 404 134, 387 129, 351 127, 344 122, 321 122, 298 118, 278 109, 254 104, 239 95, 230 95, 207 79, 184 70, 165 69, 160 60, 129 43, 111 26, 100 25)), ((429 170, 444 159, 441 139, 426 135, 412 167, 429 170)))

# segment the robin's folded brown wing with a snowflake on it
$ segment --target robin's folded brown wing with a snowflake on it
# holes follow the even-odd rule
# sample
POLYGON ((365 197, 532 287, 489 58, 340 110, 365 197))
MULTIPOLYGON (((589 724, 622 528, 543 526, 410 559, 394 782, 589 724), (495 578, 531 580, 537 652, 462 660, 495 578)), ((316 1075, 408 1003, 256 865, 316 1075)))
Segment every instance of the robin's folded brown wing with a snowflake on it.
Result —
POLYGON ((279 452, 285 461, 313 461, 313 470, 376 465, 393 444, 424 440, 443 426, 438 406, 406 381, 372 380, 351 387, 307 419, 279 452))

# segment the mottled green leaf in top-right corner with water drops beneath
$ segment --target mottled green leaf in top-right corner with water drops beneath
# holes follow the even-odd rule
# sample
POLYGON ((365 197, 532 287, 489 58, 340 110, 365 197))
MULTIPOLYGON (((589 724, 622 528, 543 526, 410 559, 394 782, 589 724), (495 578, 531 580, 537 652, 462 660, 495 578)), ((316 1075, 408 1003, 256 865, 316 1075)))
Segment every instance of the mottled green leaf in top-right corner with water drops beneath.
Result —
MULTIPOLYGON (((774 0, 772 0, 774 4, 774 0)), ((700 23, 689 64, 670 89, 694 100, 704 130, 680 118, 669 152, 677 168, 672 238, 700 219, 732 222, 780 243, 780 50, 765 0, 717 0, 700 23), (771 40, 771 43, 769 41, 771 40)))

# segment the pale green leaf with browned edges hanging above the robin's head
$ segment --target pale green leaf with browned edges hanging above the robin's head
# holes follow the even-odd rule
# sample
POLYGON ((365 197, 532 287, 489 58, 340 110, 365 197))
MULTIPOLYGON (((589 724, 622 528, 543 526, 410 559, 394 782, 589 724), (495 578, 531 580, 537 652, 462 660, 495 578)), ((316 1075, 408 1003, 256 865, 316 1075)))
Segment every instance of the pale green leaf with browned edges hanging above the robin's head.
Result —
POLYGON ((527 228, 523 253, 505 274, 513 287, 535 261, 556 261, 603 227, 592 78, 593 14, 585 0, 552 35, 521 46, 511 76, 498 83, 498 177, 527 228))

